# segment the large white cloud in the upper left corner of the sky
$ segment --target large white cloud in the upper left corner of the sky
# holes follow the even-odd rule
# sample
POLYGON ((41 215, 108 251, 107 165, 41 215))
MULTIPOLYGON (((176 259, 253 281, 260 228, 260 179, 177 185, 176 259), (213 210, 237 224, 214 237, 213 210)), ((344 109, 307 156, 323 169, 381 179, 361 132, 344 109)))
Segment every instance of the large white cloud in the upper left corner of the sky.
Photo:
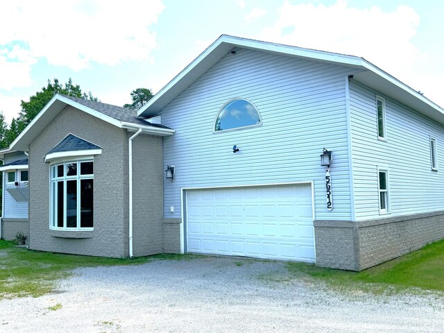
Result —
POLYGON ((92 62, 150 60, 156 47, 151 26, 164 9, 161 0, 48 0, 44 6, 22 0, 1 6, 0 54, 8 49, 6 62, 18 62, 22 70, 40 58, 74 70, 92 62))

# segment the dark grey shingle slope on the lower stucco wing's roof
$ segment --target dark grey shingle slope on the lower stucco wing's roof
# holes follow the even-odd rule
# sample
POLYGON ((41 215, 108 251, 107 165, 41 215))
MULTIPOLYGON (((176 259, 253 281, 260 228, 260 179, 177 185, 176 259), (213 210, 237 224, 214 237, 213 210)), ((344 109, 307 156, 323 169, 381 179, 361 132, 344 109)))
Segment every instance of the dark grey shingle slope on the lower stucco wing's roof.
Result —
POLYGON ((127 123, 135 123, 137 125, 144 125, 144 126, 153 126, 157 128, 167 128, 171 129, 167 126, 160 125, 159 123, 150 123, 148 121, 145 121, 143 117, 137 116, 136 110, 131 110, 127 108, 122 108, 121 106, 101 103, 101 102, 94 102, 89 101, 87 99, 78 99, 77 97, 62 95, 63 97, 66 97, 67 99, 71 99, 71 101, 74 101, 76 103, 79 103, 81 105, 85 105, 87 108, 90 108, 94 111, 100 112, 102 114, 105 114, 108 117, 114 118, 118 121, 124 121, 127 123))

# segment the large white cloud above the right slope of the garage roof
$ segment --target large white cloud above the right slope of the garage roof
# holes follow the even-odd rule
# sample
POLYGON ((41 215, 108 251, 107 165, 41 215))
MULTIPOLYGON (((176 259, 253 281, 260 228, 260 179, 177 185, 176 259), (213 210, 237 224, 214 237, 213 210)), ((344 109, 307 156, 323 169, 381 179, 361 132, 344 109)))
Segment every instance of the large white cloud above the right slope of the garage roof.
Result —
POLYGON ((352 8, 346 1, 332 6, 285 1, 278 21, 264 29, 261 38, 362 56, 397 76, 424 57, 411 42, 419 22, 415 10, 407 6, 382 12, 375 6, 352 8))

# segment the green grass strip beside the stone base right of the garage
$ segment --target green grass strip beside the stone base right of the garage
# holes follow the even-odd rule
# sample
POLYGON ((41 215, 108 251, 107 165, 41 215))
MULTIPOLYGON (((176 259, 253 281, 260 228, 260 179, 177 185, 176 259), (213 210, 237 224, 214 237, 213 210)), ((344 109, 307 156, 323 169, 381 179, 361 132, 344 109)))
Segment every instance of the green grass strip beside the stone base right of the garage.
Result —
POLYGON ((387 292, 420 288, 444 291, 444 240, 361 272, 339 271, 291 262, 294 276, 309 277, 339 289, 387 292))

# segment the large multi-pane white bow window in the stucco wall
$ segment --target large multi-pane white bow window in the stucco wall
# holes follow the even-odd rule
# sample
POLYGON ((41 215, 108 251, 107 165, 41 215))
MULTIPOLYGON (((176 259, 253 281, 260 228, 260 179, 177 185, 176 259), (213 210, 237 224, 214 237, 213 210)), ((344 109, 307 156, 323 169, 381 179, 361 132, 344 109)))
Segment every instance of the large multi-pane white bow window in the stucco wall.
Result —
POLYGON ((92 230, 94 162, 79 160, 51 165, 51 228, 92 230))

